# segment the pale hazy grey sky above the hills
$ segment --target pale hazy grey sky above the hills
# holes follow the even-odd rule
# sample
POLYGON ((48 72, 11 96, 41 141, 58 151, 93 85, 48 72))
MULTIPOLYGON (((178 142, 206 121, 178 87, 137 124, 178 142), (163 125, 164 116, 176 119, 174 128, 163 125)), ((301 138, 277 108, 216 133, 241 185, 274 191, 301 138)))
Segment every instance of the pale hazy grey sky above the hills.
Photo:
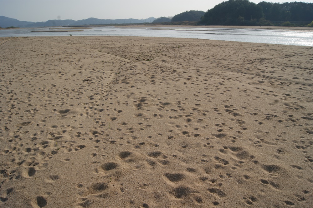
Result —
MULTIPOLYGON (((263 0, 250 1, 259 3, 263 0)), ((0 0, 0 16, 31 22, 45 22, 49 19, 81 20, 89 17, 146 19, 170 17, 189 10, 206 12, 221 2, 223 0, 0 0)), ((312 3, 313 0, 303 2, 312 3)))

